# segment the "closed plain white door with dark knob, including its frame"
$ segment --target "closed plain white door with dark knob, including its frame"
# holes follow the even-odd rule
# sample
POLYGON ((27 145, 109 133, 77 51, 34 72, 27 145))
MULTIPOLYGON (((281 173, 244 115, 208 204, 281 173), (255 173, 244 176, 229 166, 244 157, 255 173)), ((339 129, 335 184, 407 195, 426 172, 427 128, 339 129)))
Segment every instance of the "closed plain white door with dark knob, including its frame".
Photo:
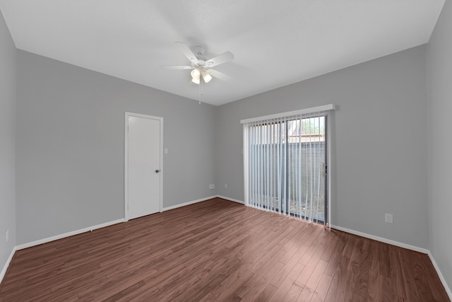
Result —
POLYGON ((126 220, 161 211, 162 118, 126 112, 126 220))

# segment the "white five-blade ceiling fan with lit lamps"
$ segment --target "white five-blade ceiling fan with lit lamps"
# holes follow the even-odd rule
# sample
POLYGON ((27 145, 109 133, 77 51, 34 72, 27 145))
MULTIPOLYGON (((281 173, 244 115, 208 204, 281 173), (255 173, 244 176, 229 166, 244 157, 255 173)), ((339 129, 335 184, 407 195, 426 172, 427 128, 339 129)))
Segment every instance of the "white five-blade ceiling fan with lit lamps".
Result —
POLYGON ((205 83, 210 82, 213 77, 222 80, 230 79, 230 76, 227 76, 227 74, 223 74, 218 70, 212 69, 212 67, 232 61, 234 59, 234 54, 232 54, 232 52, 223 52, 212 59, 206 60, 202 57, 204 54, 204 48, 201 46, 196 46, 196 54, 194 54, 190 50, 190 47, 188 47, 184 42, 175 42, 174 45, 176 45, 185 57, 189 59, 191 65, 162 65, 162 68, 192 69, 191 81, 196 84, 201 83, 201 78, 205 83))

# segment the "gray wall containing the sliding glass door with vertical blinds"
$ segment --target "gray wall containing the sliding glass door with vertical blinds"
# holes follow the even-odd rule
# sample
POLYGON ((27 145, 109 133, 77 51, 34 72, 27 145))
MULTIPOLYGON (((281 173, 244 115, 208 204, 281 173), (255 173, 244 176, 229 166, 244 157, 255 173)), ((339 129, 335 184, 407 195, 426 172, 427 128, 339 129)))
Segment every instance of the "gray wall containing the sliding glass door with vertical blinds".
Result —
POLYGON ((244 200, 240 120, 334 103, 331 223, 428 248, 425 52, 422 45, 220 106, 218 194, 244 200))

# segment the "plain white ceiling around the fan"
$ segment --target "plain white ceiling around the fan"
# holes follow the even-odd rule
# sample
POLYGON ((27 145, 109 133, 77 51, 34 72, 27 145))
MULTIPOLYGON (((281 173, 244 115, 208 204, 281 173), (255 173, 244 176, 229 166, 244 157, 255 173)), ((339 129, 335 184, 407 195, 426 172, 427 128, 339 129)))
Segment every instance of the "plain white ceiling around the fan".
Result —
POLYGON ((422 45, 444 0, 0 0, 16 47, 199 99, 174 42, 206 48, 232 76, 203 86, 221 105, 422 45))

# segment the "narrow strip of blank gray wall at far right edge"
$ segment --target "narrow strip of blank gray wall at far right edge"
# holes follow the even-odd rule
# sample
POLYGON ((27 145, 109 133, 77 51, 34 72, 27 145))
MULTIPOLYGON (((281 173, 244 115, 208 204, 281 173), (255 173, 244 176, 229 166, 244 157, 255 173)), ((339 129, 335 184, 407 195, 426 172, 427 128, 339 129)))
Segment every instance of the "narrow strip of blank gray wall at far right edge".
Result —
POLYGON ((427 47, 429 249, 452 289, 452 5, 446 1, 427 47))

